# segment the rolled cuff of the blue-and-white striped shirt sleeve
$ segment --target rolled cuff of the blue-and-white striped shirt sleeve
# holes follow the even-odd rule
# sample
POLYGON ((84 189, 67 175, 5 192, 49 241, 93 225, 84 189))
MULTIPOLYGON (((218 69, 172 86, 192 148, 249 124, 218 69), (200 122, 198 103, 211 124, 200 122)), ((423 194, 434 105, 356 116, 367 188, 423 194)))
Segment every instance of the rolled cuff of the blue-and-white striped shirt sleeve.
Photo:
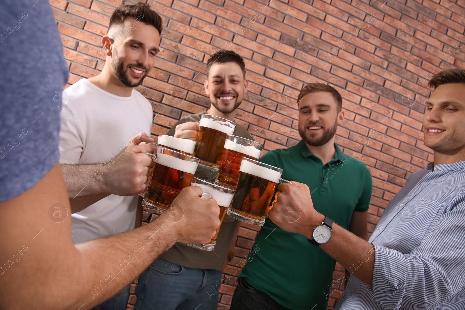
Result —
POLYGON ((399 309, 405 292, 406 258, 399 251, 374 248, 372 300, 383 309, 399 309))

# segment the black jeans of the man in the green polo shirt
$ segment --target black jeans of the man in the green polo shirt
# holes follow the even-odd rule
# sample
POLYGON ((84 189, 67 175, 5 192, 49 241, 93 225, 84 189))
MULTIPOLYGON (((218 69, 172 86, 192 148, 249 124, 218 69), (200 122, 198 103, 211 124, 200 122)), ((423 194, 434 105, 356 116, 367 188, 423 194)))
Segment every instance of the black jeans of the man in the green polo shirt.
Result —
POLYGON ((229 310, 290 310, 239 278, 229 310))

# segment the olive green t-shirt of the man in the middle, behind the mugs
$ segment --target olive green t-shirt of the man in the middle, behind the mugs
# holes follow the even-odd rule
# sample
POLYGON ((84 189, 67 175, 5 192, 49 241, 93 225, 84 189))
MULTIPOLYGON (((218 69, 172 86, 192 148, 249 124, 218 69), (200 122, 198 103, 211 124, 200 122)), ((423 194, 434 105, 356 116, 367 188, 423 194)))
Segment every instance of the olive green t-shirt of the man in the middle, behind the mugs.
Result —
MULTIPOLYGON (((186 122, 198 122, 204 113, 206 113, 206 111, 180 119, 166 134, 173 136, 177 125, 186 122)), ((235 136, 253 140, 252 135, 239 124, 236 124, 233 134, 235 136)), ((212 174, 211 171, 207 171, 201 166, 197 168, 194 176, 204 179, 210 178, 211 180, 214 180, 216 177, 214 173, 212 174)), ((219 229, 218 239, 216 240, 216 246, 213 251, 198 250, 191 248, 186 244, 177 242, 168 251, 160 255, 160 258, 170 263, 191 268, 222 270, 238 226, 238 221, 223 222, 219 229)))

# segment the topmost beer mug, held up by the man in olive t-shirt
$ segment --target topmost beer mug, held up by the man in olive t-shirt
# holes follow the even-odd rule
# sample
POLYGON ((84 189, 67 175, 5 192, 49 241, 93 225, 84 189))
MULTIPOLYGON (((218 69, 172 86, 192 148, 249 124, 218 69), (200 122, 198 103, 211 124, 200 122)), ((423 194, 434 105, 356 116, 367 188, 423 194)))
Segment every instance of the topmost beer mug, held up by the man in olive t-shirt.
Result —
POLYGON ((202 114, 194 156, 206 165, 221 163, 226 135, 233 134, 236 123, 217 116, 202 114))

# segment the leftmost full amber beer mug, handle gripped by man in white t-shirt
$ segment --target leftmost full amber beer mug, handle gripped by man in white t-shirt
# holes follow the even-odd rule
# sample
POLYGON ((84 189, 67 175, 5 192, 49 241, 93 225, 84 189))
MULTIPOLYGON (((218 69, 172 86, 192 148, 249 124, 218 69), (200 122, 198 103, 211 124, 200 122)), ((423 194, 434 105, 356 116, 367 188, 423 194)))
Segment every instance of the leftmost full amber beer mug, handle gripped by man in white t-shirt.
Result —
POLYGON ((191 185, 199 158, 162 146, 158 146, 156 155, 144 154, 155 159, 155 166, 142 206, 161 214, 170 207, 183 188, 191 185))

